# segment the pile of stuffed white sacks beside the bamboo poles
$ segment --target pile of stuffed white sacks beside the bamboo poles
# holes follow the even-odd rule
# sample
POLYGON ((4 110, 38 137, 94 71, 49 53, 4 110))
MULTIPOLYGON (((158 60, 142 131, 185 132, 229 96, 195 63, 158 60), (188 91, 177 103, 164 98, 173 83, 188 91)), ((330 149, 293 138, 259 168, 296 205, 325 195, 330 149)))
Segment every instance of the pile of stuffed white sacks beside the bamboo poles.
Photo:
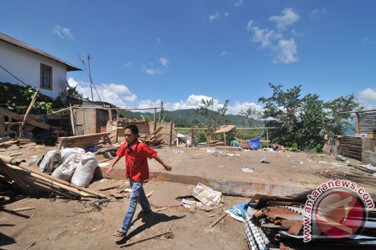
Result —
POLYGON ((85 153, 82 148, 64 148, 47 152, 38 166, 43 173, 86 187, 94 177, 98 161, 94 153, 85 153))

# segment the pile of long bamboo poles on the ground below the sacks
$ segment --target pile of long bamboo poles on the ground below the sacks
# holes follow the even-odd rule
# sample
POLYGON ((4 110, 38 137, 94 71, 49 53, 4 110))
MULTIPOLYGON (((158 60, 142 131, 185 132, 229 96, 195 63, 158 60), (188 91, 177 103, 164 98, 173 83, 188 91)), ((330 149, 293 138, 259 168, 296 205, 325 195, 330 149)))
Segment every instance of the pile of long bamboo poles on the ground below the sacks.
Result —
POLYGON ((106 198, 105 195, 98 192, 41 173, 38 169, 30 168, 24 163, 18 166, 11 165, 10 162, 6 162, 5 158, 0 158, 0 178, 14 182, 27 194, 43 190, 64 195, 71 199, 79 199, 80 197, 106 198))

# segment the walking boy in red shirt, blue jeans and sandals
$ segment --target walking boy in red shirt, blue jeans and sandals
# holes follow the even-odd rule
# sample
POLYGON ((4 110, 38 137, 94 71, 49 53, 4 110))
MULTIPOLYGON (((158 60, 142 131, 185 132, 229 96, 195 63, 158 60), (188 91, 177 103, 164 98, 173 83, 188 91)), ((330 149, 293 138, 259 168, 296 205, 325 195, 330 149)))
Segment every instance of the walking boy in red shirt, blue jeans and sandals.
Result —
POLYGON ((128 125, 124 129, 125 141, 123 145, 116 152, 116 157, 108 168, 107 175, 111 176, 112 168, 120 160, 121 157, 125 157, 126 165, 126 178, 129 178, 130 187, 132 192, 129 197, 129 208, 127 214, 124 216, 123 226, 120 230, 114 234, 118 237, 125 237, 132 222, 133 215, 136 211, 137 203, 141 205, 141 212, 139 216, 149 213, 150 209, 149 201, 144 192, 143 182, 149 179, 149 166, 147 164, 147 158, 154 158, 157 162, 161 163, 167 171, 171 171, 171 167, 166 165, 159 156, 157 151, 153 150, 146 144, 138 141, 138 128, 135 125, 128 125))

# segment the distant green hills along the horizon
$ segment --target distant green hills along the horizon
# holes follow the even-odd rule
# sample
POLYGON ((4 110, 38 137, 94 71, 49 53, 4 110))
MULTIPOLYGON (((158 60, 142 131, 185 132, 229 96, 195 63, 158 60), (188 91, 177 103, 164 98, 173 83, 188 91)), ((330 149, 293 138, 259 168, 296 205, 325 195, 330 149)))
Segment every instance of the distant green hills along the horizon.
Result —
MULTIPOLYGON (((201 115, 194 115, 195 109, 178 109, 175 111, 164 111, 164 114, 166 115, 165 120, 166 121, 174 121, 176 124, 176 127, 190 127, 192 124, 192 117, 196 117, 197 120, 200 122, 204 122, 205 118, 201 115)), ((212 111, 214 112, 214 111, 212 111)), ((126 118, 130 119, 140 119, 141 115, 147 115, 148 117, 153 120, 154 113, 150 112, 131 112, 131 111, 121 111, 121 114, 124 115, 126 118)), ((157 120, 159 117, 159 112, 157 112, 157 120)), ((243 121, 246 120, 246 117, 243 115, 227 115, 229 117, 230 122, 229 124, 242 126, 243 121)), ((264 126, 264 121, 255 120, 254 121, 254 127, 262 127, 264 126)))

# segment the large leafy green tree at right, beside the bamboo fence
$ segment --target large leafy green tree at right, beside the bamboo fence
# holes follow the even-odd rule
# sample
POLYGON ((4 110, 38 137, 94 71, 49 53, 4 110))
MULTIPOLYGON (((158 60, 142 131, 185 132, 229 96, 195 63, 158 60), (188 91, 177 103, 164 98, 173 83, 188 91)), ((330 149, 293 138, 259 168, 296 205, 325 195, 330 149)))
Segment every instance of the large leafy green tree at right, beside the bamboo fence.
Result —
POLYGON ((287 90, 282 85, 269 86, 272 96, 259 98, 265 105, 261 118, 265 126, 277 128, 270 130, 273 141, 288 147, 296 143, 301 149, 313 148, 325 133, 343 134, 351 126, 348 119, 352 117, 340 112, 359 108, 353 95, 324 102, 316 94, 301 97, 301 85, 287 90))

